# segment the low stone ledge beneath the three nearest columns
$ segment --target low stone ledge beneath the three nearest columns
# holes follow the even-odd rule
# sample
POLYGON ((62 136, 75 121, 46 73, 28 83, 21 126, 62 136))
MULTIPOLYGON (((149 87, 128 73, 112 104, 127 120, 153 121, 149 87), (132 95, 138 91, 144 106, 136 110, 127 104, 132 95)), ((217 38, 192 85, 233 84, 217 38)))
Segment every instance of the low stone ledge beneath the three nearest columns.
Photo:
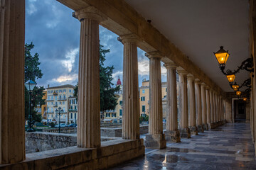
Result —
POLYGON ((1 164, 0 169, 106 169, 144 155, 144 140, 102 142, 99 148, 66 147, 26 154, 17 164, 1 164))

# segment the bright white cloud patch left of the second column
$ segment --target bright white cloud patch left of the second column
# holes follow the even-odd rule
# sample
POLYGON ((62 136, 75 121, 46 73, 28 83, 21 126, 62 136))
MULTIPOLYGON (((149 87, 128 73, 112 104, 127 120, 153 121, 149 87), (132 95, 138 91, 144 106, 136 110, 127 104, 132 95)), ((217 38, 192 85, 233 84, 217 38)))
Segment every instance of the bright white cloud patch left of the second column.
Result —
POLYGON ((67 54, 65 55, 66 60, 63 60, 62 64, 65 68, 68 69, 68 72, 72 71, 72 68, 75 63, 75 57, 78 55, 78 52, 79 52, 79 48, 75 48, 67 52, 67 54))

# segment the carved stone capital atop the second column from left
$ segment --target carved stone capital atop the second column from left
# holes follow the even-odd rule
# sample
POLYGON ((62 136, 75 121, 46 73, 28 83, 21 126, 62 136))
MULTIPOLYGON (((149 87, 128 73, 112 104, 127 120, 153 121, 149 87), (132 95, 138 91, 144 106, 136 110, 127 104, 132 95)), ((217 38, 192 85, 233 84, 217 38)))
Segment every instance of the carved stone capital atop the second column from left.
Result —
POLYGON ((107 16, 93 6, 88 6, 87 8, 75 11, 72 13, 72 16, 78 18, 79 21, 82 21, 85 18, 95 20, 98 23, 107 20, 107 16))

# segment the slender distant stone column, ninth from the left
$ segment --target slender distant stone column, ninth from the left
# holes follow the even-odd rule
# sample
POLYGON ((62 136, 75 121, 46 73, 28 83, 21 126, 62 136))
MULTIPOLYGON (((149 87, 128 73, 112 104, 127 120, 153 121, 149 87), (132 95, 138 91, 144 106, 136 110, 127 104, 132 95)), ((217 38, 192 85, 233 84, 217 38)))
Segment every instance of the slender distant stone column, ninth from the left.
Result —
POLYGON ((202 124, 203 130, 208 130, 207 125, 207 107, 206 107, 206 84, 201 84, 201 101, 202 101, 202 124))

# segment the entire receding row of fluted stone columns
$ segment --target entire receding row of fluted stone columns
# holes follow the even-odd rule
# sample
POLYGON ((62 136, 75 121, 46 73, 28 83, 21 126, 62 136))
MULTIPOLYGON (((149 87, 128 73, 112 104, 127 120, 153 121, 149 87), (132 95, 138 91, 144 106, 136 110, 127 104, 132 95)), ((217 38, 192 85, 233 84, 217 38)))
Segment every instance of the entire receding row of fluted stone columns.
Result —
MULTIPOLYGON (((25 4, 24 1, 5 2, 6 4, 1 4, 6 7, 1 8, 1 13, 5 15, 2 15, 3 20, 0 20, 1 164, 21 162, 25 159, 23 98, 25 4), (11 30, 15 31, 10 34, 11 30), (14 42, 16 45, 9 42, 14 42)), ((75 11, 73 16, 80 21, 78 147, 95 148, 101 145, 99 24, 107 17, 92 6, 75 11)), ((122 138, 139 140, 137 46, 142 40, 132 34, 120 35, 119 40, 124 44, 122 138)), ((178 69, 177 109, 176 67, 178 65, 171 61, 165 62, 168 113, 166 131, 163 132, 161 59, 164 55, 158 51, 149 51, 146 52, 146 56, 150 60, 149 135, 146 135, 146 147, 164 148, 166 140, 180 142, 180 137, 189 138, 191 132, 197 135, 198 130, 203 132, 210 128, 210 123, 223 120, 223 98, 220 94, 192 74, 188 75, 188 72, 181 68, 178 69)))

